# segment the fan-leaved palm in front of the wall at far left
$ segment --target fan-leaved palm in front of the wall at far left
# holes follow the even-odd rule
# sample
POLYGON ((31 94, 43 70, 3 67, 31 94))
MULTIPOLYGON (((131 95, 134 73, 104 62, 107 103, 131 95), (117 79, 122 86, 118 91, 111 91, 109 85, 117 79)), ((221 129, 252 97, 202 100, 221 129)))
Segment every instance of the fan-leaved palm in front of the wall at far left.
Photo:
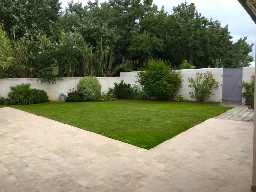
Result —
POLYGON ((33 103, 34 90, 30 88, 30 83, 16 84, 10 86, 11 91, 8 93, 10 104, 27 105, 33 103))

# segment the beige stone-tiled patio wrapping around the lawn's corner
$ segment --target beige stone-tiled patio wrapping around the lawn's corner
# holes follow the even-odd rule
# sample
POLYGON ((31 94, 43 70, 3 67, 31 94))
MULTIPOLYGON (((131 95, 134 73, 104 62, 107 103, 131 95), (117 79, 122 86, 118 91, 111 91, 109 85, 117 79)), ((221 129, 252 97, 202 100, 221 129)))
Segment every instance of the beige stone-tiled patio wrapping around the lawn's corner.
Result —
POLYGON ((0 192, 243 192, 253 123, 208 119, 146 150, 0 108, 0 192))

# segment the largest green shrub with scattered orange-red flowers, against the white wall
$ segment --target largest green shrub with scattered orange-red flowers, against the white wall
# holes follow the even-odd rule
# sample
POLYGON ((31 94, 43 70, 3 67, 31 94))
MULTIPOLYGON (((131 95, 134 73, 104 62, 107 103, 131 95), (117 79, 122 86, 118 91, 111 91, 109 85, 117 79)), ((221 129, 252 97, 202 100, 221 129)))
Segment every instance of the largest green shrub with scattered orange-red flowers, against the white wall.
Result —
POLYGON ((181 71, 175 71, 163 60, 149 60, 138 73, 138 82, 149 97, 172 98, 182 83, 181 71))

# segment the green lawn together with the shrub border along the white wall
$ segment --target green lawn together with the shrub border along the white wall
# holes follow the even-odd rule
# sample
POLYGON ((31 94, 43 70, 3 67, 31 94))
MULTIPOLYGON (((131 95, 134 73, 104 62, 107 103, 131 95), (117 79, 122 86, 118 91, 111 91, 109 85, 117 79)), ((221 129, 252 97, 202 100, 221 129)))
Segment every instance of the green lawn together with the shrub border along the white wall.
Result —
POLYGON ((0 107, 11 106, 150 149, 230 109, 205 102, 218 88, 212 72, 187 79, 189 95, 197 102, 177 95, 182 81, 180 70, 151 59, 138 72, 134 85, 121 81, 101 92, 99 80, 87 76, 79 80, 77 89, 70 88, 65 102, 49 102, 44 90, 22 83, 11 86, 8 97, 0 96, 0 107))

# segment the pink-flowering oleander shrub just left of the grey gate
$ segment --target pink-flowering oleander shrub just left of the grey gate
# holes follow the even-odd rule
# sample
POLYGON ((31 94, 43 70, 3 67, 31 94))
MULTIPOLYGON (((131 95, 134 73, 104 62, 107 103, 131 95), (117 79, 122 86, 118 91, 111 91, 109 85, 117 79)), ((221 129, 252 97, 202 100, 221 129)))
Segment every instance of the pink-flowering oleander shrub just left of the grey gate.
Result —
POLYGON ((197 102, 204 102, 214 95, 214 88, 218 87, 218 82, 214 79, 211 71, 206 73, 196 73, 196 77, 188 77, 188 87, 194 92, 189 92, 189 96, 197 102))

